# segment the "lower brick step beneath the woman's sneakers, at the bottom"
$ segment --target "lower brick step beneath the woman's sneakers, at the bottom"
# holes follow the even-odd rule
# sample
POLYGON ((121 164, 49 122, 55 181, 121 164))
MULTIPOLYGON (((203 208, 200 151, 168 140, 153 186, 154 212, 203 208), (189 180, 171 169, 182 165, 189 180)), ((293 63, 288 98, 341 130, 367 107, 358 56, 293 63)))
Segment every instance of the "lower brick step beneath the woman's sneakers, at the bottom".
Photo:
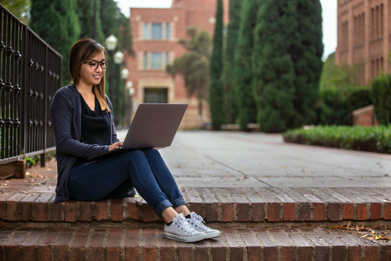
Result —
POLYGON ((183 243, 161 229, 0 229, 1 260, 391 260, 391 243, 324 228, 223 228, 183 243))

